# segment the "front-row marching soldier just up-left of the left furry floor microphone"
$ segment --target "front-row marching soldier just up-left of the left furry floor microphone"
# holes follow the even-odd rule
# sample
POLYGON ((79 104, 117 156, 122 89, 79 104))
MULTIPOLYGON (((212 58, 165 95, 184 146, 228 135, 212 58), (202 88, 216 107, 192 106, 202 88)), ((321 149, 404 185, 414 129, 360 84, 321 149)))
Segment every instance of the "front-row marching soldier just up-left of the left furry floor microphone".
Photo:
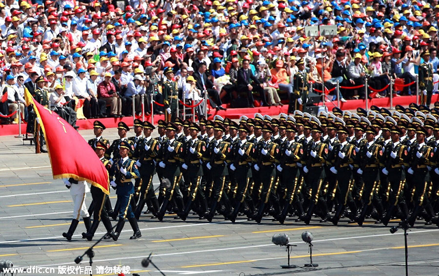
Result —
MULTIPOLYGON (((280 213, 279 199, 276 193, 273 192, 276 176, 276 163, 278 162, 279 147, 271 141, 271 134, 273 128, 265 124, 262 128, 262 139, 259 149, 260 153, 257 163, 254 164, 255 170, 259 171, 262 189, 259 197, 258 212, 255 212, 255 221, 260 223, 262 216, 268 207, 268 202, 271 199, 271 204, 275 209, 275 213, 280 213)), ((256 151, 256 149, 254 149, 256 151)))

